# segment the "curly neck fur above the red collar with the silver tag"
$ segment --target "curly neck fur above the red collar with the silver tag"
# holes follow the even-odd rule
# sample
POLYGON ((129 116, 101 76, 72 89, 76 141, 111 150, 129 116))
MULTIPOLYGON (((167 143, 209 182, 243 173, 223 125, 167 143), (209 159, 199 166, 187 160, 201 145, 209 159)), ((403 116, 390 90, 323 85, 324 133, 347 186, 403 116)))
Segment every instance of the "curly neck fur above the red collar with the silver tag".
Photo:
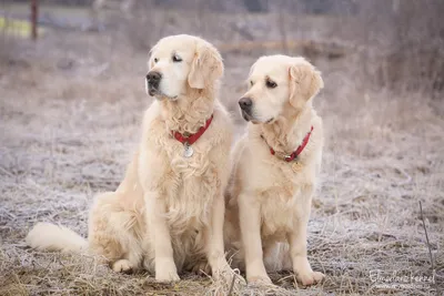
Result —
POLYGON ((162 100, 162 116, 169 131, 194 134, 213 114, 214 92, 189 89, 176 100, 162 100))

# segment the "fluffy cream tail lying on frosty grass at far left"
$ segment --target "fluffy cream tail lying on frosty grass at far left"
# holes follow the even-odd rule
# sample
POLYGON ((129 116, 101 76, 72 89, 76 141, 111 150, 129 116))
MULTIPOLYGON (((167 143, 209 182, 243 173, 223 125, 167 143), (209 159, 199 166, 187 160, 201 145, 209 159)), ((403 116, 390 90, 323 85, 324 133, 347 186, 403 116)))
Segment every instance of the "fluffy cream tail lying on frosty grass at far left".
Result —
POLYGON ((82 253, 88 249, 88 241, 73 231, 51 223, 38 223, 27 235, 29 246, 40 251, 82 253))

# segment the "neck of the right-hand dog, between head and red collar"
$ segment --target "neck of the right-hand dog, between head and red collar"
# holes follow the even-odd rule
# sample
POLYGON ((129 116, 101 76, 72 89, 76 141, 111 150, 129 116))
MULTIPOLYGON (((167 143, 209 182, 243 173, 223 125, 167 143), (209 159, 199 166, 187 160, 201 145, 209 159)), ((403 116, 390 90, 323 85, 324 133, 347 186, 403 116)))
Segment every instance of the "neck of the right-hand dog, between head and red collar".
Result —
POLYGON ((260 134, 275 152, 291 154, 310 132, 312 118, 313 109, 310 103, 302 110, 289 106, 272 123, 261 124, 260 134))

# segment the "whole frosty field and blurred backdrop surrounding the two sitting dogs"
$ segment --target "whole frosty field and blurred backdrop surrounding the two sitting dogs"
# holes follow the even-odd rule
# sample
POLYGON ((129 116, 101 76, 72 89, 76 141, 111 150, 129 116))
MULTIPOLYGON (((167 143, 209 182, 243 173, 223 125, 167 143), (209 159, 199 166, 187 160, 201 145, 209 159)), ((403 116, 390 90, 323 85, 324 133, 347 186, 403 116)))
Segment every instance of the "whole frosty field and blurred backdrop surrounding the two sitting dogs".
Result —
POLYGON ((443 293, 444 1, 38 2, 37 40, 30 1, 0 3, 0 295, 205 293, 205 276, 159 285, 23 242, 37 221, 87 234, 93 195, 115 190, 140 141, 149 50, 176 33, 220 49, 220 99, 238 135, 238 100, 259 57, 303 55, 323 73, 314 106, 326 145, 309 256, 327 278, 304 288, 273 274, 282 295, 443 293), (393 274, 410 279, 384 283, 393 274))

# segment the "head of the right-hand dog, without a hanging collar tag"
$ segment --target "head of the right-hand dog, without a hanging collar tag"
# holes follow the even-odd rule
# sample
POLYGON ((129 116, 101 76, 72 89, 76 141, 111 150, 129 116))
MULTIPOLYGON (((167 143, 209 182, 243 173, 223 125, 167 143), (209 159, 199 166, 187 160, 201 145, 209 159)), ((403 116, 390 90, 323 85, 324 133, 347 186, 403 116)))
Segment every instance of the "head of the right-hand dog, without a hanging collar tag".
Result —
POLYGON ((304 58, 270 55, 251 68, 249 90, 239 101, 242 116, 270 123, 289 109, 301 110, 324 86, 321 73, 304 58))

